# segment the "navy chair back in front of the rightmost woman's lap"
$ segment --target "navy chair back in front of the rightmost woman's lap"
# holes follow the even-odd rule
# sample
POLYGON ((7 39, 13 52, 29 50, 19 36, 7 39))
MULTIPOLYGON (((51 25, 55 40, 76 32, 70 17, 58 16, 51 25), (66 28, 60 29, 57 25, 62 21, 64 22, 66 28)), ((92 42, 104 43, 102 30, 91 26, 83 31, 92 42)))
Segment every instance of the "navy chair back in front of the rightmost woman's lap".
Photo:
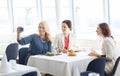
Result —
POLYGON ((104 76, 105 63, 105 57, 98 57, 88 64, 87 71, 96 72, 100 76, 104 76))

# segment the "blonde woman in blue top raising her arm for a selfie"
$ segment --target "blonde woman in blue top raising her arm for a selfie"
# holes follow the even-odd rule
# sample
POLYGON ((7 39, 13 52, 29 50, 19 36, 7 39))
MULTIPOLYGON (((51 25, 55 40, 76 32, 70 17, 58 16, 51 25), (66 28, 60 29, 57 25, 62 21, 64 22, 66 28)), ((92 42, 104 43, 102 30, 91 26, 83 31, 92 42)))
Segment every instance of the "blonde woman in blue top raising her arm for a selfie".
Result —
POLYGON ((41 21, 38 25, 38 34, 31 34, 27 37, 20 37, 20 28, 17 28, 17 41, 20 45, 30 44, 29 54, 45 54, 51 51, 50 30, 45 21, 41 21))

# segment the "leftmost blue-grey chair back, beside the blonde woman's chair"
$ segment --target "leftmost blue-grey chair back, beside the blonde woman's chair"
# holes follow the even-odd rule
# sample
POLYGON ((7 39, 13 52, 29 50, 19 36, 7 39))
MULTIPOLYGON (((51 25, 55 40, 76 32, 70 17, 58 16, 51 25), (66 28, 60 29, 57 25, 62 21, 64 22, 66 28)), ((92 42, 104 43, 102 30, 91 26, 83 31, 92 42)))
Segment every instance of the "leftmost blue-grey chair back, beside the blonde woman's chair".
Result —
POLYGON ((6 56, 7 60, 17 60, 17 55, 18 55, 18 43, 11 43, 7 46, 6 48, 6 56))

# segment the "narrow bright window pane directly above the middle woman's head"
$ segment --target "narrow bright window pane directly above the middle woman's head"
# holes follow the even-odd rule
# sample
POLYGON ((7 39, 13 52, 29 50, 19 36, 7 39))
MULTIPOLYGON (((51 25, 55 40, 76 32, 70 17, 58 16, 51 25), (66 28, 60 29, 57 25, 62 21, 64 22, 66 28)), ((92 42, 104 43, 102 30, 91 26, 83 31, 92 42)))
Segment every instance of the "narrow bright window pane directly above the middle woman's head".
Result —
POLYGON ((72 0, 56 0, 56 19, 59 32, 61 32, 63 20, 69 19, 74 24, 72 5, 72 0))

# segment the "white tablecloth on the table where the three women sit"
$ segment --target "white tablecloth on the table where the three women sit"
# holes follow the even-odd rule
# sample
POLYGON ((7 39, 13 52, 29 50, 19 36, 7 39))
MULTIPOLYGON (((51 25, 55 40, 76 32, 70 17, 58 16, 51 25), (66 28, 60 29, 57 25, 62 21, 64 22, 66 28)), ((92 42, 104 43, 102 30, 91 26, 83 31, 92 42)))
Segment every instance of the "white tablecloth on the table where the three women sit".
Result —
POLYGON ((29 66, 34 66, 41 73, 50 73, 55 76, 80 76, 88 63, 96 57, 90 57, 85 52, 78 52, 76 56, 67 54, 57 56, 35 55, 30 56, 29 66))

